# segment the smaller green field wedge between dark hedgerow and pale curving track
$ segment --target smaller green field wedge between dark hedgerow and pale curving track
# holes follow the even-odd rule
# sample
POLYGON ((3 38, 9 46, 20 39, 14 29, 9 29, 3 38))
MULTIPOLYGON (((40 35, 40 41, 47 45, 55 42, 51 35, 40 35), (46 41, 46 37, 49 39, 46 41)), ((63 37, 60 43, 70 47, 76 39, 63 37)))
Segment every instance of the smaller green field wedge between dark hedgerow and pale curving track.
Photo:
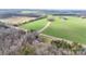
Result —
POLYGON ((39 30, 41 29, 46 24, 47 24, 47 20, 46 18, 42 18, 42 20, 39 20, 39 21, 36 21, 36 22, 32 22, 32 23, 27 23, 27 24, 24 24, 20 27, 22 28, 25 28, 25 29, 35 29, 35 30, 39 30))

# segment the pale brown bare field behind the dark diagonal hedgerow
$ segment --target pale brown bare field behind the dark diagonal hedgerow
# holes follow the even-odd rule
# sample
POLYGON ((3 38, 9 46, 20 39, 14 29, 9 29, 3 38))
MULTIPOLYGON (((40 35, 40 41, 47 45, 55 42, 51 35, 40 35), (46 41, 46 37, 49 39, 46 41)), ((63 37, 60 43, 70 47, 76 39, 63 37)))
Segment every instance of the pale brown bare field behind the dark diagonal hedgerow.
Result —
POLYGON ((12 16, 8 18, 0 20, 3 23, 11 24, 11 25, 19 25, 25 22, 29 22, 32 20, 36 20, 37 17, 27 17, 27 16, 12 16))

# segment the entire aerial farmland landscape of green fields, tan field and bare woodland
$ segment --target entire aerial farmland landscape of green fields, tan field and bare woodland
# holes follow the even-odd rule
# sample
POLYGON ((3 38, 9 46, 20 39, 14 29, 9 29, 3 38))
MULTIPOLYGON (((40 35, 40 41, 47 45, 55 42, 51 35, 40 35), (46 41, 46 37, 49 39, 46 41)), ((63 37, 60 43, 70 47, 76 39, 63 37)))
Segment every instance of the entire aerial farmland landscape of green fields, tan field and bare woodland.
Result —
POLYGON ((86 55, 86 11, 0 10, 1 55, 86 55))

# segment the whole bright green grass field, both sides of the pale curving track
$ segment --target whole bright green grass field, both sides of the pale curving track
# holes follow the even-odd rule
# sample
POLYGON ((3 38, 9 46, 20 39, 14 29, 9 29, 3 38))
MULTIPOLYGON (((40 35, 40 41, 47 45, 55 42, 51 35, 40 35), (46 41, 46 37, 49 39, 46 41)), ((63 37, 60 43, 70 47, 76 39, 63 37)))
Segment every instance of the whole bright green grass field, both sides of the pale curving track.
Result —
MULTIPOLYGON (((42 31, 42 34, 67 39, 75 42, 86 43, 86 18, 76 16, 66 16, 63 20, 60 16, 54 16, 54 22, 42 31)), ((24 24, 20 27, 25 29, 41 29, 48 23, 47 18, 24 24)))

